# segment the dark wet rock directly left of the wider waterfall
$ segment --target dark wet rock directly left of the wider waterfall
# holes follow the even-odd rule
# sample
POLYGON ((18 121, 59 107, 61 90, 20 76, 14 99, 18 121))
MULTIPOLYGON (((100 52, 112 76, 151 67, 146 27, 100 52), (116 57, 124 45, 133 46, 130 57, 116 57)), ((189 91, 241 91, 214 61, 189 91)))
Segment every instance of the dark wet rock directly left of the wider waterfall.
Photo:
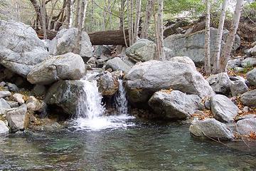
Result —
POLYGON ((58 81, 48 89, 44 101, 60 107, 68 115, 75 115, 83 86, 82 81, 58 81))

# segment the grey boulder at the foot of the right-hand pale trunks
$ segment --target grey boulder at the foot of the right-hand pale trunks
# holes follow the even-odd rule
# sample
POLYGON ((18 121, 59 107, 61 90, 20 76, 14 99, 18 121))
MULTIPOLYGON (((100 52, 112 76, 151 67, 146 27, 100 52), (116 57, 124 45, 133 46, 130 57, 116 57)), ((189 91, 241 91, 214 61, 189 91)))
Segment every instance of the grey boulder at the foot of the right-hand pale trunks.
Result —
POLYGON ((215 93, 228 94, 230 92, 230 79, 227 73, 218 73, 206 79, 215 93))

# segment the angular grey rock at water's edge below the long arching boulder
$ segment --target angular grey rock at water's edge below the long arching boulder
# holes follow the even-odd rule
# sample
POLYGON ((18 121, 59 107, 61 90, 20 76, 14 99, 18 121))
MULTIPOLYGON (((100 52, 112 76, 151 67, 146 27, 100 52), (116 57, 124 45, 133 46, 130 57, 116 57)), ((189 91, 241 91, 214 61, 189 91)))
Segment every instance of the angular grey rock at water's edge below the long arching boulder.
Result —
POLYGON ((159 118, 183 120, 190 118, 202 105, 198 95, 186 95, 179 90, 171 93, 160 90, 149 99, 149 106, 159 118))

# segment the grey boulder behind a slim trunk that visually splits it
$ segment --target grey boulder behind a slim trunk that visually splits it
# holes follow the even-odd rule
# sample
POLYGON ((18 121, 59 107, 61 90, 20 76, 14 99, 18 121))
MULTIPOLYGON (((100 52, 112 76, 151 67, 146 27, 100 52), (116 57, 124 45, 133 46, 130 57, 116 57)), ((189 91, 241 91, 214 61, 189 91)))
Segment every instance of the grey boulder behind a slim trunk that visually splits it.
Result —
MULTIPOLYGON (((50 42, 49 52, 53 56, 63 55, 68 52, 72 52, 76 46, 76 38, 78 35, 78 28, 63 28, 61 29, 55 38, 50 42)), ((85 31, 82 31, 80 56, 87 60, 92 57, 92 43, 90 37, 85 31)), ((86 60, 86 61, 87 61, 86 60)))

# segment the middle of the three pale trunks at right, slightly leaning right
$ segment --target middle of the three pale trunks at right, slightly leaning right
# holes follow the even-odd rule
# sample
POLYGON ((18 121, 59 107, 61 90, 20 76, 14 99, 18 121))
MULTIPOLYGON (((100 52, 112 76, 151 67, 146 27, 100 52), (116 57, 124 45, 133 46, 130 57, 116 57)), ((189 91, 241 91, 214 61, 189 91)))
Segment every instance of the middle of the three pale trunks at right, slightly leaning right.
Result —
POLYGON ((218 35, 215 43, 215 53, 214 53, 214 63, 213 63, 213 73, 220 72, 220 48, 221 41, 223 37, 223 27, 225 22, 225 12, 227 9, 228 0, 223 0, 223 5, 220 14, 220 21, 218 25, 218 35))

